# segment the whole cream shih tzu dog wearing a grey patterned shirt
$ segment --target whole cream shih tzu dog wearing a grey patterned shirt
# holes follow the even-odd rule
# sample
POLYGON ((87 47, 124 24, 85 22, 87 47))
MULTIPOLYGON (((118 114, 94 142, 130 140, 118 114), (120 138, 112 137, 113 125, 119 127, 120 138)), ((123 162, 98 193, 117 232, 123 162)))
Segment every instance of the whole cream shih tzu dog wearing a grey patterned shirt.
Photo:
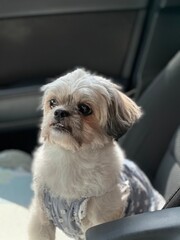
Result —
POLYGON ((162 196, 116 142, 141 116, 119 86, 77 69, 42 91, 29 240, 54 240, 56 227, 85 239, 92 226, 162 207, 162 196))

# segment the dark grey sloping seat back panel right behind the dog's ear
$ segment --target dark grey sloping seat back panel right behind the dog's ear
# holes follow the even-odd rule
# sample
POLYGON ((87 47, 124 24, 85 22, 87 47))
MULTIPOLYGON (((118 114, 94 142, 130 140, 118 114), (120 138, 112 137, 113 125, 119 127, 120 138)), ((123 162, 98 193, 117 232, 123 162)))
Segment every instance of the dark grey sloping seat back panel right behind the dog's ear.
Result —
POLYGON ((127 157, 136 161, 152 181, 180 124, 179 90, 180 52, 141 96, 138 103, 144 116, 120 139, 127 157))

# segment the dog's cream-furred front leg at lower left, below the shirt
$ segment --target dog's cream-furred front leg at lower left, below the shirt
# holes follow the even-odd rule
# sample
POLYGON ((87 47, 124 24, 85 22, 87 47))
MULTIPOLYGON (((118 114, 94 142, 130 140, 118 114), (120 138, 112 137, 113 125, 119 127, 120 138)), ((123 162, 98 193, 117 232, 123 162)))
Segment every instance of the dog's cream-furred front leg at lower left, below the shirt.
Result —
POLYGON ((34 199, 30 208, 28 240, 55 240, 55 227, 37 199, 34 199))

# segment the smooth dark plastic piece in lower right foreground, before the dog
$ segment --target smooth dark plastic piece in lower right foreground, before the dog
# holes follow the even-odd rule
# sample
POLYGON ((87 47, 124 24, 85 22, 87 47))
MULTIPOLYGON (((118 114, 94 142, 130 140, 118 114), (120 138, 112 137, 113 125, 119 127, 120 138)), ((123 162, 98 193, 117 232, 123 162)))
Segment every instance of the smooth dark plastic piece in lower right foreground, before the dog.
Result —
POLYGON ((180 239, 180 207, 143 213, 89 229, 86 240, 180 239))

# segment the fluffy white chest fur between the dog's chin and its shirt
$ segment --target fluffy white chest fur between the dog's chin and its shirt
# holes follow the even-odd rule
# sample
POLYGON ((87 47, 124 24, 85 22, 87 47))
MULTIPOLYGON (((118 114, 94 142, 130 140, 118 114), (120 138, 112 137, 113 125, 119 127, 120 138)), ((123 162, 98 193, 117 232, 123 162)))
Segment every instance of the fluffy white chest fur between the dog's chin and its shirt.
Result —
POLYGON ((34 188, 39 191, 46 185, 65 199, 103 195, 117 183, 122 161, 123 153, 114 142, 99 151, 76 154, 46 144, 36 153, 34 188))

